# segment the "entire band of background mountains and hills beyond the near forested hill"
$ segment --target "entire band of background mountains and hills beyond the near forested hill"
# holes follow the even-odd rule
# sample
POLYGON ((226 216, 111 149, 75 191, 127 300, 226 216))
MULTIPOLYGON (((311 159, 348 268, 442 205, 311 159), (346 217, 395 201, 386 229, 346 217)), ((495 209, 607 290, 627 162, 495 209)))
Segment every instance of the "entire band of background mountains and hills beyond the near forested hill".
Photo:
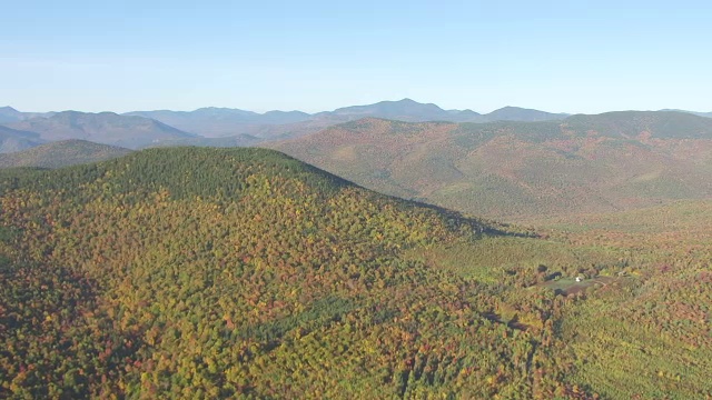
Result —
MULTIPOLYGON (((8 108, 4 111, 17 114, 8 108)), ((206 138, 137 114, 65 111, 0 128, 0 151, 75 138, 129 149, 263 146, 377 191, 505 219, 625 210, 712 196, 706 179, 712 172, 712 119, 689 112, 621 111, 564 118, 505 108, 479 116, 405 99, 317 113, 307 121, 298 121, 306 118, 305 113, 257 114, 226 109, 178 114, 185 121, 199 117, 220 123, 260 119, 269 123, 251 126, 259 136, 206 138), (224 114, 230 117, 221 119, 224 114), (449 114, 451 119, 511 120, 406 122, 360 118, 373 114, 392 119, 429 120, 449 114), (337 123, 343 120, 349 121, 337 123)), ((85 159, 68 157, 53 163, 80 160, 85 159)), ((13 163, 17 158, 8 166, 13 163)), ((41 162, 22 164, 43 167, 41 162)))

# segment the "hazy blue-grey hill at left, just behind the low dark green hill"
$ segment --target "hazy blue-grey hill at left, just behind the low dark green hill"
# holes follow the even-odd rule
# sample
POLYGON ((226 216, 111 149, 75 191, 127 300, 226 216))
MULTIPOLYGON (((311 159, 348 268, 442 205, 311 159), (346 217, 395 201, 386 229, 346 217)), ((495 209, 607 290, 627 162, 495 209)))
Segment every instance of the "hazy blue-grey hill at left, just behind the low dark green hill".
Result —
POLYGON ((165 123, 113 112, 58 112, 48 118, 31 118, 10 124, 13 129, 37 132, 43 140, 81 139, 136 149, 161 140, 192 138, 165 123))

